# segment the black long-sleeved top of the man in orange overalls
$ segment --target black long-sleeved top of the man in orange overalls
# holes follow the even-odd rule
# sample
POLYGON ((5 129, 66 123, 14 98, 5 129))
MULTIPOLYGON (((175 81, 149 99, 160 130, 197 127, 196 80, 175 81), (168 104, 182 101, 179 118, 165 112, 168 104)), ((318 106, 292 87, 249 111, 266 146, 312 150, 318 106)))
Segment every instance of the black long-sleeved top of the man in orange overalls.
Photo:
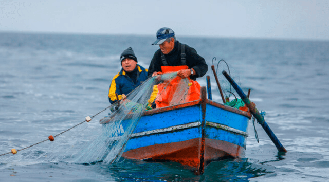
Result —
MULTIPOLYGON (((181 66, 181 57, 180 51, 181 43, 176 41, 174 49, 165 54, 166 60, 168 62, 168 66, 181 66)), ((203 57, 197 54, 196 50, 185 44, 185 54, 186 54, 186 65, 191 69, 193 68, 196 72, 196 75, 190 76, 192 80, 195 80, 198 77, 204 76, 208 71, 208 65, 203 57)), ((161 50, 158 49, 151 60, 148 77, 151 77, 153 72, 161 71, 161 66, 163 66, 161 60, 161 50)))

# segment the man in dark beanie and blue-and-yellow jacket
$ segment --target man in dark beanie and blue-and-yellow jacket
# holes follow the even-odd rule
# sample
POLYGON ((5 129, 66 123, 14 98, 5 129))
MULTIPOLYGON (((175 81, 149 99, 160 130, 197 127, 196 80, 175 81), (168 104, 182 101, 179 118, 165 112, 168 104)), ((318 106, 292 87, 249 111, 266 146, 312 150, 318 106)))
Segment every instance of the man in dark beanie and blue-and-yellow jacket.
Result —
POLYGON ((127 95, 132 92, 143 81, 148 79, 148 70, 137 64, 134 50, 129 47, 120 56, 121 70, 112 79, 108 91, 108 100, 111 104, 122 99, 122 94, 127 95))

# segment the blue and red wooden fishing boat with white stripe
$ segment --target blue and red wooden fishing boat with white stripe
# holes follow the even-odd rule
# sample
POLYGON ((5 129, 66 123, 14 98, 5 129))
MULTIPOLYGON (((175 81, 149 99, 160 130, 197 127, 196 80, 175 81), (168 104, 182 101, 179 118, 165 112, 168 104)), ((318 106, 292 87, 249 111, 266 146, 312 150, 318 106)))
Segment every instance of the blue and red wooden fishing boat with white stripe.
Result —
POLYGON ((250 112, 207 99, 202 87, 200 100, 144 112, 122 156, 179 162, 202 174, 211 161, 244 157, 250 118, 250 112))

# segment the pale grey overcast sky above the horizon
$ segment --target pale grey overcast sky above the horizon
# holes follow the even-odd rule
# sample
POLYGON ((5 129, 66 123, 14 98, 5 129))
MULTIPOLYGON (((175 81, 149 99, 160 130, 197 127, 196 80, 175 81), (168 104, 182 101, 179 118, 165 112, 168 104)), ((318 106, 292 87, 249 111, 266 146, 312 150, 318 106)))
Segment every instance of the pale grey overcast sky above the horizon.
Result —
POLYGON ((0 31, 329 40, 329 1, 0 0, 0 31))

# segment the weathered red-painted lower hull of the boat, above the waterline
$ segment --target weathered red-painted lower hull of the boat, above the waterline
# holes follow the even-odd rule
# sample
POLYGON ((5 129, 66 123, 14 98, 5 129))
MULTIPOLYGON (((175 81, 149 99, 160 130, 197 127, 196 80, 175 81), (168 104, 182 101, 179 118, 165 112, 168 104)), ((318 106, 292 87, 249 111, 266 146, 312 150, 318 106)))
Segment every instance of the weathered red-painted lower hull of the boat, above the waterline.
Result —
MULTIPOLYGON (((137 160, 175 161, 199 170, 200 138, 185 141, 155 144, 129 150, 123 157, 137 160)), ((230 142, 205 138, 204 163, 223 157, 244 157, 245 149, 230 142)))

